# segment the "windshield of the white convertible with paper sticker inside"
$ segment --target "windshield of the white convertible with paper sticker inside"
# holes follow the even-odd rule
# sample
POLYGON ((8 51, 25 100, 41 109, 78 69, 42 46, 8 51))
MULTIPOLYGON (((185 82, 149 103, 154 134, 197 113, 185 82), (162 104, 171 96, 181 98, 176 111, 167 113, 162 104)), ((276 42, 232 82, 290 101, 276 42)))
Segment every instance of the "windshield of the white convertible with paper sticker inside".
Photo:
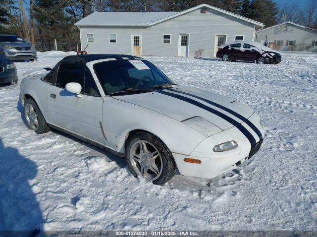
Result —
POLYGON ((159 69, 145 60, 114 60, 96 63, 94 70, 106 94, 152 91, 172 86, 159 69))

